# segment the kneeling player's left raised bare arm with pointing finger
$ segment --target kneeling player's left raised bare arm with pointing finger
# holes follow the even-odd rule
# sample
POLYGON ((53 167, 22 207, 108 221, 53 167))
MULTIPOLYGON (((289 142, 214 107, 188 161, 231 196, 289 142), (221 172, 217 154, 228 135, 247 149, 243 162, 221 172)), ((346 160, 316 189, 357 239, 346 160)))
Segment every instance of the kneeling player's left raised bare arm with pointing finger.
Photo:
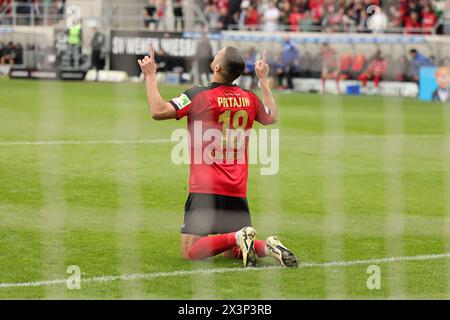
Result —
POLYGON ((142 73, 145 76, 145 88, 147 92, 147 103, 155 120, 175 119, 176 111, 174 107, 161 98, 156 81, 156 62, 155 50, 150 48, 150 57, 145 56, 144 59, 138 60, 142 73))

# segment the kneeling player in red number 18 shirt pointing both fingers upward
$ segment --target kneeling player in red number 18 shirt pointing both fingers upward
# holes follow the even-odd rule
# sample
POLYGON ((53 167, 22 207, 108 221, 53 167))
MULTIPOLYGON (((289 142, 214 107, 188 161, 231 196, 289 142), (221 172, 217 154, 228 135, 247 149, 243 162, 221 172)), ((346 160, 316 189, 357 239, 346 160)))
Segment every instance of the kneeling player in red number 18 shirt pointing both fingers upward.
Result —
MULTIPOLYGON (((248 136, 245 137, 244 161, 220 161, 223 150, 206 152, 204 135, 211 130, 226 133, 229 129, 250 130, 254 120, 263 125, 276 122, 277 106, 268 83, 269 66, 265 53, 255 63, 255 72, 262 89, 262 101, 251 91, 233 85, 244 71, 245 63, 234 47, 220 50, 211 64, 214 75, 207 87, 193 87, 179 97, 164 101, 156 81, 153 48, 150 57, 138 60, 145 76, 147 102, 155 120, 188 117, 190 133, 189 197, 185 205, 184 224, 181 228, 181 254, 185 259, 203 260, 220 253, 242 258, 244 266, 255 266, 257 257, 271 256, 286 267, 296 267, 294 254, 277 237, 256 240, 251 227, 248 208, 248 136), (201 137, 196 126, 201 125, 201 137), (198 150, 200 149, 200 150, 198 150), (198 152, 199 151, 199 152, 198 152), (205 154, 214 161, 198 161, 195 155, 205 154), (197 160, 197 161, 196 161, 197 160), (211 234, 217 234, 209 236, 211 234)), ((229 144, 221 137, 219 149, 229 144)), ((233 150, 233 157, 235 149, 233 150)), ((211 160, 211 159, 209 159, 211 160)))

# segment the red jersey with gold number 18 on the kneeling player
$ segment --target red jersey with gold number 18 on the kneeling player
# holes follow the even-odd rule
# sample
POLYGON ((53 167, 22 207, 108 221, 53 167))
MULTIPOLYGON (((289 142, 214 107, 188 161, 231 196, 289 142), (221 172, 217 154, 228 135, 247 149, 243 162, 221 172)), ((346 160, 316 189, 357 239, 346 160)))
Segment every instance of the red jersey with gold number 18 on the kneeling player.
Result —
MULTIPOLYGON (((188 89, 170 103, 177 111, 177 120, 185 116, 188 118, 189 192, 246 197, 248 136, 245 137, 245 144, 242 144, 245 148, 243 159, 229 161, 230 150, 225 151, 222 147, 231 140, 227 134, 229 129, 248 132, 255 120, 263 125, 273 123, 269 110, 258 96, 236 85, 212 83, 207 87, 188 89), (217 136, 214 133, 217 132, 222 133, 223 141, 220 143, 215 141, 217 136)), ((244 143, 244 140, 241 141, 244 143)), ((235 155, 236 149, 232 152, 231 157, 235 155)))

